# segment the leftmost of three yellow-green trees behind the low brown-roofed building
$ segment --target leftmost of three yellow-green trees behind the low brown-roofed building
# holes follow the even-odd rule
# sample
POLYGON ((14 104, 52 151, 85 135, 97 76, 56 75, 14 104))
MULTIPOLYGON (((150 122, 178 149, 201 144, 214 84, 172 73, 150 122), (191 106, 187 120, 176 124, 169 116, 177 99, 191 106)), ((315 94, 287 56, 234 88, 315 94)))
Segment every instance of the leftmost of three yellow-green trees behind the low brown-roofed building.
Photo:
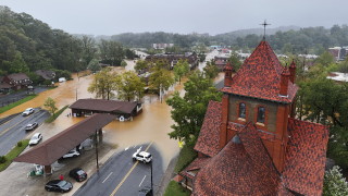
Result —
POLYGON ((116 74, 111 72, 110 68, 102 69, 95 75, 94 81, 88 87, 88 91, 96 94, 96 97, 101 97, 102 99, 110 99, 114 97, 113 90, 116 89, 116 74))

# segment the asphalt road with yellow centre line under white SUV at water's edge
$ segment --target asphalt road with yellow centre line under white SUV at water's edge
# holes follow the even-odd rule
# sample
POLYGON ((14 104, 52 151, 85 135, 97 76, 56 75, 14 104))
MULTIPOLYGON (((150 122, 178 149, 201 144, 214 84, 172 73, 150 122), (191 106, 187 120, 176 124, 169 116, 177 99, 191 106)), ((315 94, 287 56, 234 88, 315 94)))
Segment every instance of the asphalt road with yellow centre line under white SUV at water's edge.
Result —
POLYGON ((153 157, 153 189, 164 173, 162 158, 151 144, 138 145, 113 155, 102 168, 74 194, 74 196, 130 196, 151 185, 151 164, 132 160, 132 155, 141 146, 153 157), (150 145, 150 146, 149 146, 150 145))

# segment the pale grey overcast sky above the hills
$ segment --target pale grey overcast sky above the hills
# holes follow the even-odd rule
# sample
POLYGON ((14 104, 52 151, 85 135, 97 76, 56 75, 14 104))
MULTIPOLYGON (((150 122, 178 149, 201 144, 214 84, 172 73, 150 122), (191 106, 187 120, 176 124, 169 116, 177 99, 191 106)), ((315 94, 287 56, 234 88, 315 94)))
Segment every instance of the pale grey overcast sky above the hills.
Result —
POLYGON ((211 35, 258 28, 348 23, 348 0, 0 0, 71 34, 167 32, 211 35))

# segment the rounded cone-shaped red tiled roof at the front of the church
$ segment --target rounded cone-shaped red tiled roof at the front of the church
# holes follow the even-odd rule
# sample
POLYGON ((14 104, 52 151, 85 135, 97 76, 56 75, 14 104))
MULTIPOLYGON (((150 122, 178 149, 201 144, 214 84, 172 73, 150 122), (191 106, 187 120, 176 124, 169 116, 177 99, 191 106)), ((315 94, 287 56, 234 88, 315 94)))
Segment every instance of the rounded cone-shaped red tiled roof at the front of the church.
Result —
POLYGON ((275 195, 281 177, 253 125, 239 134, 241 143, 228 144, 200 170, 194 194, 210 195, 275 195))

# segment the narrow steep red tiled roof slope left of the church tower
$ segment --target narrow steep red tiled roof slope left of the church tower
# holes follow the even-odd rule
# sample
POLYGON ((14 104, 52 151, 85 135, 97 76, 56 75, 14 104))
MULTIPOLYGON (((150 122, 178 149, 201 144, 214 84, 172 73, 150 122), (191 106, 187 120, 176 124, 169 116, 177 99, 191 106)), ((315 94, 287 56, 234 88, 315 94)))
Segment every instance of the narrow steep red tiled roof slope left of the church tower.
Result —
POLYGON ((210 101, 195 150, 210 157, 213 157, 219 152, 220 121, 221 102, 210 101))

